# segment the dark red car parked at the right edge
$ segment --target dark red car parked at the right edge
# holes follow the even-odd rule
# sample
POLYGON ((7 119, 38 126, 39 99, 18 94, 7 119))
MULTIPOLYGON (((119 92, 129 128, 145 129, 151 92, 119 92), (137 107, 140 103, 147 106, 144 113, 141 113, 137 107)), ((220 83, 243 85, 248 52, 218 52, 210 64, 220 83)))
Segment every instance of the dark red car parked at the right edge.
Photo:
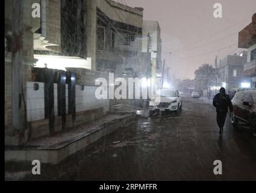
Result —
POLYGON ((256 129, 256 90, 244 90, 235 93, 232 99, 234 113, 231 116, 233 125, 238 121, 246 122, 256 129))

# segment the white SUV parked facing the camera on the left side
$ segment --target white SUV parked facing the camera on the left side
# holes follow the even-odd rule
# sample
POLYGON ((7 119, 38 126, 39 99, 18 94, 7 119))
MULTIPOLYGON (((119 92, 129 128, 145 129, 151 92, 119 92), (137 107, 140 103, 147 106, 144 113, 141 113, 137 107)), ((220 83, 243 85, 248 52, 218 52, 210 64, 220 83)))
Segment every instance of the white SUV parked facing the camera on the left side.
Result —
POLYGON ((149 101, 150 112, 153 113, 156 110, 176 111, 177 114, 182 110, 182 97, 178 90, 175 89, 160 89, 157 90, 157 94, 160 96, 160 103, 154 100, 149 101))

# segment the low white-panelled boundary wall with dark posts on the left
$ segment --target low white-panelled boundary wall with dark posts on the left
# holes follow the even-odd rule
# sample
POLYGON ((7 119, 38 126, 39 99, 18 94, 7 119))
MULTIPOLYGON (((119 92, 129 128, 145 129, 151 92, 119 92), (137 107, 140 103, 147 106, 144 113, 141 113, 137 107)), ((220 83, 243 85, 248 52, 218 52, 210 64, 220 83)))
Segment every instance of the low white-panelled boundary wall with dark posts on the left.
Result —
MULTIPOLYGON (((75 86, 76 121, 74 125, 90 123, 110 110, 110 100, 97 100, 95 97, 95 80, 99 77, 108 78, 108 74, 87 69, 73 69, 77 73, 75 86), (79 73, 79 74, 78 74, 79 73)), ((72 71, 72 72, 73 72, 72 71)), ((27 82, 26 105, 28 140, 50 135, 49 119, 45 119, 44 83, 27 82), (38 90, 34 84, 38 84, 38 90)), ((68 114, 68 84, 66 84, 66 128, 73 127, 72 115, 68 114)), ((57 84, 54 83, 54 133, 62 131, 62 117, 58 116, 57 84)))

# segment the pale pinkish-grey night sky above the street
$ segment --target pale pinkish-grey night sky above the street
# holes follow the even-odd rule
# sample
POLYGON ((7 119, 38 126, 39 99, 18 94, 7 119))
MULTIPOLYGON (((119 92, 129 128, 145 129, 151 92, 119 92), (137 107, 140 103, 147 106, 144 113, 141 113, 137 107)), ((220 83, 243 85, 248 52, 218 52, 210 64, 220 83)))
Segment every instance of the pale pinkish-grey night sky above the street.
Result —
MULTIPOLYGON (((118 2, 118 1, 117 1, 118 2)), ((203 63, 214 64, 215 55, 242 51, 238 32, 251 23, 255 0, 119 0, 143 7, 145 20, 159 21, 162 59, 176 78, 194 78, 203 63), (221 3, 223 17, 214 18, 213 5, 221 3), (237 24, 237 25, 236 25, 237 24), (169 54, 172 52, 172 54, 169 54)))

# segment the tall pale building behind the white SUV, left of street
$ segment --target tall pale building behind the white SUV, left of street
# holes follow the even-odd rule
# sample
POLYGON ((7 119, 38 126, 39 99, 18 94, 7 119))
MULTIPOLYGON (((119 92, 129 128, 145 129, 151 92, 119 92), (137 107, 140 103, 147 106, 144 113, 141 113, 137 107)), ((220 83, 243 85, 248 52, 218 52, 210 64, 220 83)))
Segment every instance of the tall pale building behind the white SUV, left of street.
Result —
POLYGON ((162 76, 162 39, 161 29, 157 21, 143 21, 142 51, 151 53, 151 74, 158 87, 162 76))

